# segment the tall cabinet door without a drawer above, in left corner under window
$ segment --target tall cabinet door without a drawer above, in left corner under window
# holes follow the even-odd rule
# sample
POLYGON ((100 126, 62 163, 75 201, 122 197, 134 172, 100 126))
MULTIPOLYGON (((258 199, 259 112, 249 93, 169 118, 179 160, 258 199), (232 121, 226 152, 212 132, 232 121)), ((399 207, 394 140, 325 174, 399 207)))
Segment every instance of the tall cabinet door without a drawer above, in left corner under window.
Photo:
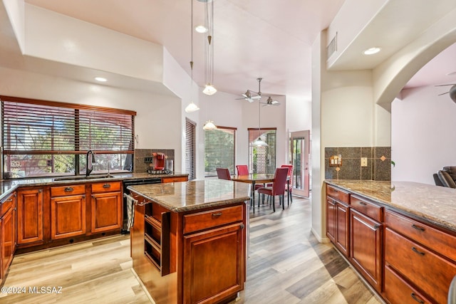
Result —
POLYGON ((17 243, 43 241, 43 189, 17 192, 17 243))

